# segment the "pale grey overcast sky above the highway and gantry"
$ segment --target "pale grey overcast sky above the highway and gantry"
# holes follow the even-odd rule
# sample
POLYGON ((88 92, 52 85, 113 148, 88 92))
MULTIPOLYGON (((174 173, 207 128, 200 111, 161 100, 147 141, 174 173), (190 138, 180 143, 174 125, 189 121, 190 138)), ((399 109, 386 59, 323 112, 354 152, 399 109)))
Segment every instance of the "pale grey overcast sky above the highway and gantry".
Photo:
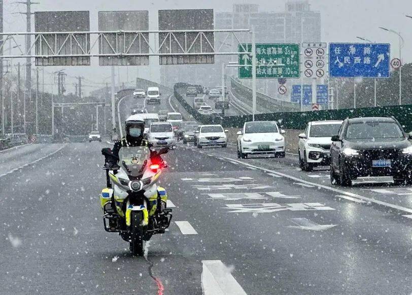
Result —
MULTIPOLYGON (((157 29, 157 10, 159 9, 199 9, 212 8, 215 11, 231 11, 233 3, 256 3, 260 5, 260 11, 284 11, 286 0, 36 0, 40 4, 32 5, 32 11, 59 11, 59 10, 89 10, 91 29, 97 29, 97 12, 101 10, 149 10, 151 28, 157 29)), ((391 43, 392 57, 399 56, 398 37, 379 29, 384 26, 396 31, 400 31, 405 46, 402 49, 403 62, 412 60, 412 19, 406 18, 405 14, 412 15, 412 1, 410 0, 311 0, 312 10, 320 11, 322 18, 322 41, 323 42, 358 42, 356 36, 362 36, 372 41, 391 43)), ((16 14, 24 12, 25 5, 17 4, 15 1, 4 1, 4 31, 24 31, 25 16, 16 14)), ((34 23, 34 21, 32 21, 34 23)), ((32 29, 34 24, 32 24, 32 29)), ((268 40, 270 42, 270 40, 268 40)), ((23 44, 22 44, 23 45, 23 44)), ((8 46, 5 46, 6 48, 8 46)), ((16 52, 17 53, 17 52, 16 52)), ((24 63, 25 60, 20 60, 24 63)), ((17 63, 18 60, 13 60, 17 63)), ((67 90, 73 92, 72 84, 75 80, 71 77, 84 76, 91 82, 110 82, 110 68, 98 67, 96 62, 92 67, 65 67, 68 74, 67 90)), ((58 70, 58 67, 46 67, 46 78, 51 77, 48 73, 58 70)), ((136 67, 123 67, 120 70, 120 80, 126 81, 128 71, 129 81, 135 79, 136 67)), ((117 72, 117 70, 116 70, 117 72)), ((148 67, 141 67, 139 71, 143 78, 155 75, 148 67)), ((158 79, 157 75, 155 75, 158 79)), ((118 79, 116 78, 116 81, 118 79)), ((50 83, 51 81, 48 81, 50 83)), ((85 89, 86 91, 92 88, 85 89)))

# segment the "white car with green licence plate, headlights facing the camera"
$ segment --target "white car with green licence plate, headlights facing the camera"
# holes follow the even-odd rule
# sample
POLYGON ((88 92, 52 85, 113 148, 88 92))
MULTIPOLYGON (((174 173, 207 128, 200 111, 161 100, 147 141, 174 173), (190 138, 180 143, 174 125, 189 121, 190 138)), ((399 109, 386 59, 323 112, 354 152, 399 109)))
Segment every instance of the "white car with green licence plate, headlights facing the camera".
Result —
POLYGON ((285 157, 284 130, 272 121, 246 122, 242 131, 237 132, 237 157, 273 154, 285 157))

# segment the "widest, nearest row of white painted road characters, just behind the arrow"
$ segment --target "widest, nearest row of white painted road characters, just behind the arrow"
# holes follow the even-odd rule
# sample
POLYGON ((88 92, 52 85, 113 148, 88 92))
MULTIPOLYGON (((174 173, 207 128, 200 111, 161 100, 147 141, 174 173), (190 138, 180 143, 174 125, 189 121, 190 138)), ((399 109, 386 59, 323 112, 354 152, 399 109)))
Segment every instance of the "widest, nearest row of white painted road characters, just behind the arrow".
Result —
POLYGON ((221 209, 230 209, 228 213, 273 213, 277 211, 313 211, 313 210, 335 210, 321 203, 260 203, 260 204, 226 204, 221 209))

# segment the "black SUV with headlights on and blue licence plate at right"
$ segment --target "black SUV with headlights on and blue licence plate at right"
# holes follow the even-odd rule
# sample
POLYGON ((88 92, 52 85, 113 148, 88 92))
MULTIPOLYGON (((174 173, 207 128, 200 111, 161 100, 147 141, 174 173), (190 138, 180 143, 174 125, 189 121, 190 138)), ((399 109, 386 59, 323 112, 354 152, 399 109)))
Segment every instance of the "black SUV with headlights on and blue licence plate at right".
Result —
POLYGON ((346 119, 332 136, 330 181, 350 186, 364 176, 393 176, 411 182, 412 144, 394 118, 346 119))

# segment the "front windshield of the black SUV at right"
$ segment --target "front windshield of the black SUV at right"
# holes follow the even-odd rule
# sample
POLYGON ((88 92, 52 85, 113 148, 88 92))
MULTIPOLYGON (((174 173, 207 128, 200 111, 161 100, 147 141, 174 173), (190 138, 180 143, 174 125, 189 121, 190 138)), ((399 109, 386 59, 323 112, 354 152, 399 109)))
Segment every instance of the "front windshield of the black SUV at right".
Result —
POLYGON ((394 122, 350 123, 346 131, 347 139, 403 139, 403 133, 394 122))

